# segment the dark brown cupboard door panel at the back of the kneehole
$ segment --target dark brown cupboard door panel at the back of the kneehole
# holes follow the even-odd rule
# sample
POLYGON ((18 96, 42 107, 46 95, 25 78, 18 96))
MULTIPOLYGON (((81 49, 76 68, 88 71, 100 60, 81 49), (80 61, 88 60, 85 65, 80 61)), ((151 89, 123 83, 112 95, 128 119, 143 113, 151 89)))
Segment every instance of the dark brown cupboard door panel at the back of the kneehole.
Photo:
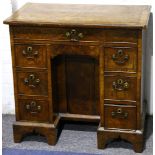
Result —
POLYGON ((98 115, 98 62, 89 57, 69 56, 66 62, 68 111, 98 115))

